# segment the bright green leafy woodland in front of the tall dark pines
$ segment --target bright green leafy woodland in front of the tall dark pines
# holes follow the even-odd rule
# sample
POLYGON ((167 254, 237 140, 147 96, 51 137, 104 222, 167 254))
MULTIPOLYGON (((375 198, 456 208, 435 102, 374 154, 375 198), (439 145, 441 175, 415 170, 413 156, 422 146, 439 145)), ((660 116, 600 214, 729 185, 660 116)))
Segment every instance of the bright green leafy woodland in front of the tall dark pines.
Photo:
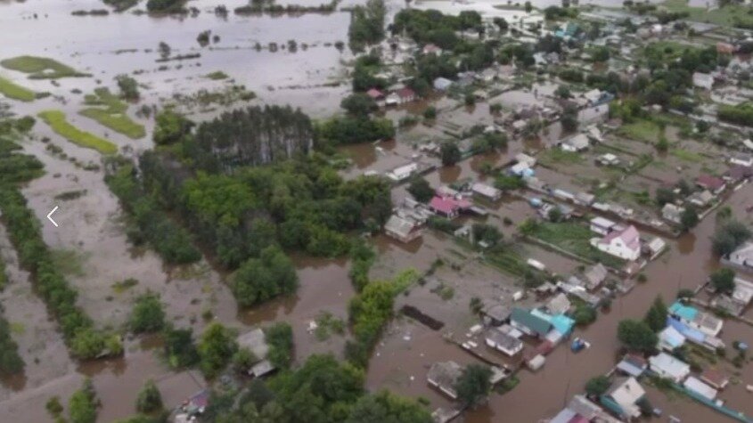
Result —
POLYGON ((391 209, 389 183, 365 176, 345 182, 323 158, 245 167, 232 176, 199 173, 195 178, 179 175, 172 160, 143 155, 145 188, 159 192, 168 207, 176 208, 229 268, 273 245, 340 256, 350 244, 345 232, 370 222, 381 224, 391 209))

